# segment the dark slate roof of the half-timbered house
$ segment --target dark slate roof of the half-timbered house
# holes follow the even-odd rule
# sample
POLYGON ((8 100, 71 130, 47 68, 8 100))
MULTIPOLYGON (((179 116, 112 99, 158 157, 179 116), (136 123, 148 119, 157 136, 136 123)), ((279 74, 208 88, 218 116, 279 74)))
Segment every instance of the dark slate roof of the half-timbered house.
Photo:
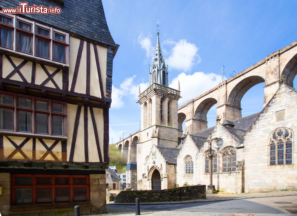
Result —
MULTIPOLYGON (((0 7, 16 8, 20 1, 5 0, 0 7)), ((51 25, 67 32, 72 32, 109 46, 116 46, 110 35, 101 0, 65 0, 58 3, 53 0, 26 0, 28 6, 33 4, 44 7, 59 7, 60 14, 21 14, 44 24, 51 25)))

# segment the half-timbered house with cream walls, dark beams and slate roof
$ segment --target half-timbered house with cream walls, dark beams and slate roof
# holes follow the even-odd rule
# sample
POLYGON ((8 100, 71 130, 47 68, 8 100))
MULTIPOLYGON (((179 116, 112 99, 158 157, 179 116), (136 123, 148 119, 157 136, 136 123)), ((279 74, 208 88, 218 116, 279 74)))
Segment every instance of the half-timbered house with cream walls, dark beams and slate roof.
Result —
POLYGON ((118 45, 101 0, 27 2, 61 13, 0 12, 0 212, 105 212, 118 45))

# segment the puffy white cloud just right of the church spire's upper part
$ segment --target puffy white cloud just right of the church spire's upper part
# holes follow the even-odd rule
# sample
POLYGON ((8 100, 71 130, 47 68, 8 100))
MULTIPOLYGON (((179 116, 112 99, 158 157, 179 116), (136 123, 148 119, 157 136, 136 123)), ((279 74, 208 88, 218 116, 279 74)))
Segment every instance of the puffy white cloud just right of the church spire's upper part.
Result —
MULTIPOLYGON (((172 41, 168 40, 167 43, 172 44, 172 41)), ((170 68, 187 72, 193 65, 200 63, 201 58, 197 52, 198 47, 194 43, 181 39, 172 48, 171 55, 167 59, 167 63, 170 68)))

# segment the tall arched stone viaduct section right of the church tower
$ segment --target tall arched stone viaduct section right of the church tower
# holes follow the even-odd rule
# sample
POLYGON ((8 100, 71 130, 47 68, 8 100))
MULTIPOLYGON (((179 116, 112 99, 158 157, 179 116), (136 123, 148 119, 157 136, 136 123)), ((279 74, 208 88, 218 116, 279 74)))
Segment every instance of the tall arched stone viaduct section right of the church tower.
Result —
POLYGON ((178 131, 194 133, 207 128, 206 114, 217 103, 220 122, 241 118, 241 99, 258 83, 264 84, 263 107, 271 100, 280 82, 293 86, 297 73, 297 41, 278 50, 265 59, 223 81, 216 87, 188 101, 178 108, 178 131), (185 130, 182 124, 185 120, 185 130))

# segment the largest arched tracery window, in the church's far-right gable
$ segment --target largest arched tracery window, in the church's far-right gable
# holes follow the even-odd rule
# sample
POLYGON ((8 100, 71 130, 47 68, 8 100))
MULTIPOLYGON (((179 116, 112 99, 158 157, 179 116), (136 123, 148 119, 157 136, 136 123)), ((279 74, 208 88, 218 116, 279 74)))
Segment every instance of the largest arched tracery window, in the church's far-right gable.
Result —
POLYGON ((292 164, 293 131, 278 128, 269 137, 269 165, 292 164))

